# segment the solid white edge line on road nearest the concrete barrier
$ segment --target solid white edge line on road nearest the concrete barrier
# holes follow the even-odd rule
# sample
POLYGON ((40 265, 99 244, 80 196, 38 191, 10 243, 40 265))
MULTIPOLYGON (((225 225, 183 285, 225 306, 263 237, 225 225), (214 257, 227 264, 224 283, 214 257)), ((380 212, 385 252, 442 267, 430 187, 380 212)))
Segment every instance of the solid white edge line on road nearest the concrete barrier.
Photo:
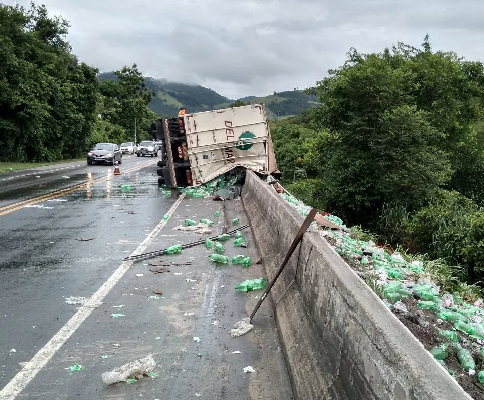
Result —
MULTIPOLYGON (((178 198, 177 201, 171 206, 168 215, 171 216, 173 212, 180 205, 185 197, 185 193, 178 198)), ((146 247, 156 235, 163 229, 167 221, 163 219, 158 225, 151 231, 151 233, 140 243, 140 245, 130 254, 130 256, 143 253, 146 247)), ((53 357, 57 350, 66 342, 67 339, 74 333, 75 330, 91 315, 94 311, 94 305, 101 302, 104 297, 111 291, 116 283, 123 277, 126 271, 135 261, 123 262, 119 268, 107 279, 106 282, 94 293, 87 302, 79 308, 78 312, 67 321, 67 323, 57 332, 51 340, 49 340, 45 346, 43 346, 34 357, 25 364, 25 366, 15 375, 12 380, 0 390, 1 400, 14 400, 20 392, 28 385, 28 383, 37 375, 37 373, 45 367, 47 362, 53 357)))

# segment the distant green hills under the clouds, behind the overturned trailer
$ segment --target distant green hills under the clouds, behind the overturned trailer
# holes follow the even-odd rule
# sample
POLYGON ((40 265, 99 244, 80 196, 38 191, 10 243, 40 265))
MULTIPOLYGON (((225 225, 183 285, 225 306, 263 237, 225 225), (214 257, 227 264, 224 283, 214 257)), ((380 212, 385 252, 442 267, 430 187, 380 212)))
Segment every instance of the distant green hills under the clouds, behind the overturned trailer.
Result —
MULTIPOLYGON (((99 79, 116 77, 112 72, 99 74, 99 79)), ((145 78, 146 86, 153 92, 150 109, 161 116, 177 115, 180 107, 186 107, 189 112, 199 112, 230 107, 235 100, 219 95, 212 89, 200 85, 170 82, 166 79, 145 78)), ((268 118, 271 120, 281 117, 298 115, 301 110, 316 107, 317 98, 306 95, 300 90, 274 92, 265 97, 246 96, 242 99, 245 104, 265 103, 268 118)))

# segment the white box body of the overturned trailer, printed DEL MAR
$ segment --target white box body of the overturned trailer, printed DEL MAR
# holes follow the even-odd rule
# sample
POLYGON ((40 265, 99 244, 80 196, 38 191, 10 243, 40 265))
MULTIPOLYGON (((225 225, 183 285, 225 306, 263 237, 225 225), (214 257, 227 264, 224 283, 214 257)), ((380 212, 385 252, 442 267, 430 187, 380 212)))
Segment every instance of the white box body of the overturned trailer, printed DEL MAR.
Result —
POLYGON ((260 104, 183 115, 194 186, 242 166, 262 175, 277 172, 276 158, 260 104))

